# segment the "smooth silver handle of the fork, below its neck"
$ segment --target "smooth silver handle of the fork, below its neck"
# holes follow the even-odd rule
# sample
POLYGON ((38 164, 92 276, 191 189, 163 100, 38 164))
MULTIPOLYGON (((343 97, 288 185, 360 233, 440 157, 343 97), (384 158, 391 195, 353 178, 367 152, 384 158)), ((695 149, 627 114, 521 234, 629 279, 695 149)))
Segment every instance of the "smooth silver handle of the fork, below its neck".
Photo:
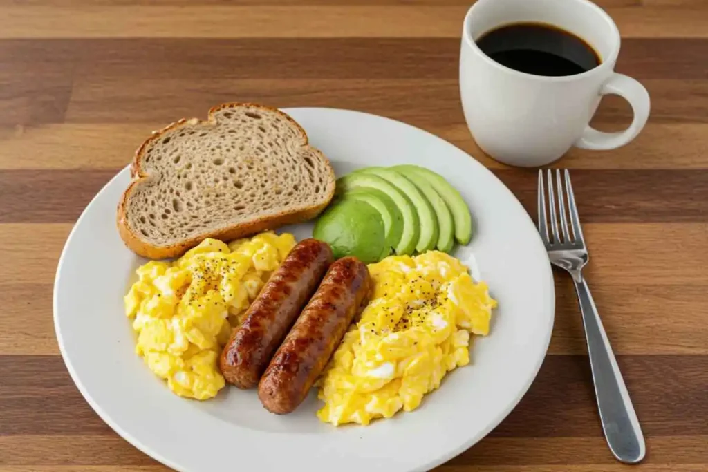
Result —
POLYGON ((607 444, 617 460, 636 464, 644 459, 646 453, 639 420, 634 413, 615 355, 612 354, 610 340, 607 339, 603 322, 600 321, 590 288, 579 274, 573 277, 573 282, 578 292, 581 313, 583 313, 583 328, 588 340, 595 397, 598 400, 600 420, 607 444))

